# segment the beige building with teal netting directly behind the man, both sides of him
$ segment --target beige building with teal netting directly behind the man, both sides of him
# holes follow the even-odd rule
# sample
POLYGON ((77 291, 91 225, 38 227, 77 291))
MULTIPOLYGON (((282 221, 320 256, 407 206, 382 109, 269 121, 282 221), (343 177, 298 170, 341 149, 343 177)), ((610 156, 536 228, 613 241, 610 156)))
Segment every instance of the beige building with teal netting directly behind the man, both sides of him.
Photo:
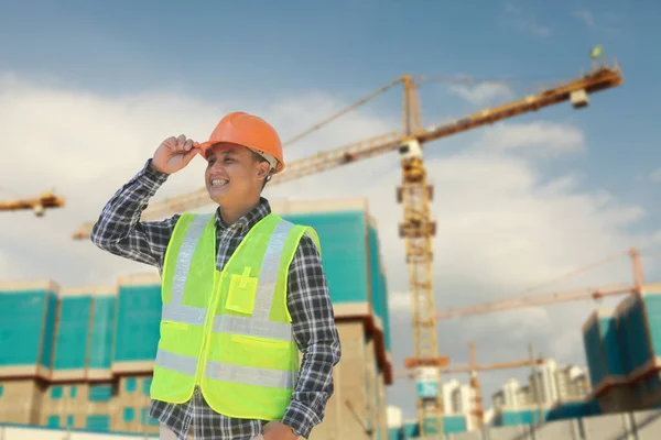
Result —
MULTIPOLYGON (((392 382, 387 282, 367 204, 296 201, 272 209, 318 231, 342 339, 335 395, 311 438, 386 439, 384 387, 392 382)), ((158 432, 148 417, 161 319, 158 274, 93 287, 3 282, 1 292, 0 421, 158 432)))

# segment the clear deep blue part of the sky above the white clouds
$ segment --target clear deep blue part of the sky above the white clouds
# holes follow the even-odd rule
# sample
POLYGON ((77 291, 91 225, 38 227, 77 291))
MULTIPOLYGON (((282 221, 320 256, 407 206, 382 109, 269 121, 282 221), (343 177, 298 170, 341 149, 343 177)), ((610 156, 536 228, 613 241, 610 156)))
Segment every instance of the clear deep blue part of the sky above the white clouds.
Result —
MULTIPOLYGON (((653 148, 660 105, 651 99, 661 92, 651 55, 661 7, 630 4, 2 2, 0 37, 9 44, 0 46, 0 69, 108 94, 164 87, 209 100, 238 92, 268 100, 322 89, 351 100, 403 73, 566 78, 588 66, 586 54, 600 43, 620 62, 625 86, 595 96, 581 116, 563 106, 544 117, 572 118, 587 131, 594 153, 576 165, 589 182, 642 201, 653 187, 640 177, 661 162, 653 148)), ((422 96, 425 106, 460 114, 430 98, 422 96)))

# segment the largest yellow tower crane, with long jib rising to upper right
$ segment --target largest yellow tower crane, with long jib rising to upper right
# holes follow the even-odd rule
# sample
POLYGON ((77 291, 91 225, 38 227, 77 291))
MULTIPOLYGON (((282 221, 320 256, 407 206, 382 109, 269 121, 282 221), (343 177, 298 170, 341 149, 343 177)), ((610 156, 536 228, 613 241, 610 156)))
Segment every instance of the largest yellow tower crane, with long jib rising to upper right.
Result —
MULTIPOLYGON (((447 359, 438 358, 436 341, 432 285, 432 237, 435 235, 436 223, 430 213, 433 188, 427 184, 422 145, 565 101, 571 101, 576 109, 584 108, 588 105, 588 94, 619 86, 622 84, 622 76, 617 62, 613 66, 604 63, 571 81, 523 99, 485 109, 452 122, 422 128, 418 99, 420 79, 411 75, 403 75, 371 96, 361 99, 323 123, 316 124, 307 132, 318 129, 325 122, 336 119, 361 102, 399 84, 402 84, 404 90, 403 130, 401 132, 381 134, 293 161, 282 173, 273 176, 270 185, 312 176, 343 165, 399 151, 402 174, 401 185, 397 188, 397 199, 403 205, 403 221, 400 223, 399 233, 405 240, 414 336, 413 356, 408 358, 404 364, 409 369, 416 369, 419 384, 427 385, 419 387, 419 389, 431 391, 431 393, 419 393, 418 415, 421 433, 434 435, 443 432, 443 407, 441 395, 437 392, 440 377, 436 372, 438 366, 447 363, 447 359)), ((195 209, 210 202, 206 188, 201 188, 153 204, 142 212, 141 219, 143 221, 159 220, 164 216, 195 209)), ((87 239, 93 227, 93 222, 83 224, 78 231, 74 232, 73 238, 87 239)))

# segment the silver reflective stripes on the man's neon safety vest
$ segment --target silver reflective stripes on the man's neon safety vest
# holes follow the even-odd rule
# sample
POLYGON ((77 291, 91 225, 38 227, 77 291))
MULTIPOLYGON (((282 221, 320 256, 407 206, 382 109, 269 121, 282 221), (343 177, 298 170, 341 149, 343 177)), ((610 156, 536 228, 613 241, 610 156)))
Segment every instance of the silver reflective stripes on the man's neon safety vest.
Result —
MULTIPOLYGON (((195 248, 209 219, 210 215, 195 217, 186 231, 172 280, 172 300, 171 304, 163 304, 162 320, 199 327, 205 323, 206 314, 208 312, 207 308, 182 305, 182 299, 195 248)), ((262 260, 252 315, 250 317, 215 316, 212 327, 213 332, 270 338, 285 342, 293 341, 291 324, 269 320, 281 255, 292 228, 293 224, 291 222, 281 220, 270 237, 262 260)), ((160 367, 194 376, 197 371, 198 359, 172 353, 159 348, 154 363, 160 367)), ((296 382, 297 372, 208 361, 205 365, 205 376, 216 381, 228 381, 248 385, 293 387, 296 382)))

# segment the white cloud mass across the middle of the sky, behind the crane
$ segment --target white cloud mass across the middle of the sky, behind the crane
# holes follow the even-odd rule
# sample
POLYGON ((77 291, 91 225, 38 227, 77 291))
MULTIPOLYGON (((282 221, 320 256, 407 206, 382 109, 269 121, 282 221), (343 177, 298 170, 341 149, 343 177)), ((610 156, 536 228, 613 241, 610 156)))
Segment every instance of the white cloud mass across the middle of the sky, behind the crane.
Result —
MULTIPOLYGON (((3 141, 12 146, 11 161, 0 161, 3 187, 26 197, 55 187, 67 197, 65 209, 47 211, 43 218, 31 212, 0 217, 6 255, 0 258, 0 276, 48 277, 61 285, 105 284, 113 283, 120 273, 149 270, 108 255, 88 242, 74 242, 71 233, 82 222, 97 218, 106 201, 142 167, 163 139, 178 133, 204 139, 219 116, 237 108, 235 102, 239 100, 212 105, 161 92, 106 97, 0 77, 3 141)), ((344 105, 316 94, 268 107, 246 102, 243 108, 263 114, 281 129, 283 139, 289 139, 344 105)), ((286 147, 285 154, 290 160, 302 157, 398 127, 397 120, 354 112, 286 147)), ((436 145, 430 144, 425 151, 436 145)), ((641 208, 622 204, 604 190, 583 190, 571 173, 540 176, 537 162, 521 154, 524 148, 546 155, 584 151, 585 139, 576 128, 544 121, 498 124, 481 129, 480 141, 464 145, 462 153, 426 161, 435 187, 431 207, 437 219, 433 240, 437 307, 508 296, 649 239, 628 232, 643 213, 641 208)), ((172 176, 154 199, 202 187, 203 167, 202 161, 195 160, 172 176)), ((394 188, 400 182, 393 152, 267 187, 266 194, 270 199, 293 197, 294 190, 300 191, 296 198, 368 198, 393 293, 389 301, 395 315, 392 339, 398 369, 403 358, 412 354, 409 297, 403 294, 409 292, 404 243, 397 232, 402 207, 397 204, 394 188)), ((619 260, 576 283, 628 279, 628 262, 619 260)), ((590 308, 589 304, 559 305, 444 321, 440 322, 438 341, 453 363, 467 361, 466 344, 472 340, 485 363, 525 358, 532 340, 545 354, 584 364, 579 329, 590 308), (564 342, 559 346, 553 341, 564 342)), ((485 395, 489 396, 503 378, 506 373, 483 378, 485 395)), ((414 402, 405 383, 398 383, 389 396, 398 404, 414 402)))

